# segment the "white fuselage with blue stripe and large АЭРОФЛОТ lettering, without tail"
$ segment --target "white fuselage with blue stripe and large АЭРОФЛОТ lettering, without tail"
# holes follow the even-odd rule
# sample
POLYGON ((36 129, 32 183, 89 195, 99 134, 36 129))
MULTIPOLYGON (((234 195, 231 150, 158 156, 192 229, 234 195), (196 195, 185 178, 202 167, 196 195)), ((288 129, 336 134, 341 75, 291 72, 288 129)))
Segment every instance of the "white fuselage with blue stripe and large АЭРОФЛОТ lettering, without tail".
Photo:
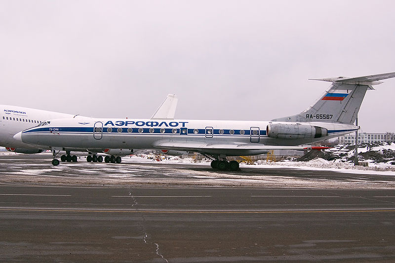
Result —
MULTIPOLYGON (((152 119, 52 119, 49 124, 20 134, 26 143, 48 147, 166 149, 161 142, 176 142, 178 150, 191 150, 189 145, 297 146, 338 137, 357 129, 352 124, 308 122, 327 129, 327 135, 309 139, 275 139, 266 134, 272 121, 228 120, 152 120, 152 119), (185 145, 185 149, 182 147, 185 145), (188 146, 188 147, 187 147, 188 146)), ((284 123, 284 122, 278 122, 284 123)), ((297 124, 289 122, 287 124, 297 124)), ((207 147, 206 147, 207 148, 207 147)), ((259 147, 258 147, 259 148, 259 147)), ((258 149, 257 148, 257 149, 258 149)), ((170 148, 170 150, 173 148, 170 148)), ((204 150, 207 153, 230 155, 258 154, 264 151, 204 150)))

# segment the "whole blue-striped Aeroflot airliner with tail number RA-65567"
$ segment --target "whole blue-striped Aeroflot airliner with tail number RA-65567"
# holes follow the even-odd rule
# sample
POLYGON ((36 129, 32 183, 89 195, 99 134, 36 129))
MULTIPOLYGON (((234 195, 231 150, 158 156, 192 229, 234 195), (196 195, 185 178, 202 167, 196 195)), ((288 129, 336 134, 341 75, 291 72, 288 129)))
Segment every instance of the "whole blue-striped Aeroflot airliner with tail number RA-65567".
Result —
MULTIPOLYGON (((52 119, 14 136, 24 143, 52 150, 129 148, 195 151, 209 157, 219 170, 238 170, 227 156, 256 155, 269 150, 311 150, 313 142, 355 132, 354 125, 367 90, 395 77, 395 72, 361 77, 314 80, 332 82, 309 109, 271 121, 177 119, 52 119)), ((54 159, 53 165, 59 161, 54 159)))

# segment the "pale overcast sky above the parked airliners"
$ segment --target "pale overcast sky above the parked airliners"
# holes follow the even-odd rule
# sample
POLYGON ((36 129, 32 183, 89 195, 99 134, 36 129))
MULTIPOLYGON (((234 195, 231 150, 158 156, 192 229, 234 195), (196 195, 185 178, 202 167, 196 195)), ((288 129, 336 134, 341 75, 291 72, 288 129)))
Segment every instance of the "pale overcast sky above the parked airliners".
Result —
MULTIPOLYGON (((0 0, 0 104, 148 118, 270 120, 330 76, 395 72, 395 1, 0 0)), ((395 132, 395 79, 368 91, 365 132, 395 132)))

